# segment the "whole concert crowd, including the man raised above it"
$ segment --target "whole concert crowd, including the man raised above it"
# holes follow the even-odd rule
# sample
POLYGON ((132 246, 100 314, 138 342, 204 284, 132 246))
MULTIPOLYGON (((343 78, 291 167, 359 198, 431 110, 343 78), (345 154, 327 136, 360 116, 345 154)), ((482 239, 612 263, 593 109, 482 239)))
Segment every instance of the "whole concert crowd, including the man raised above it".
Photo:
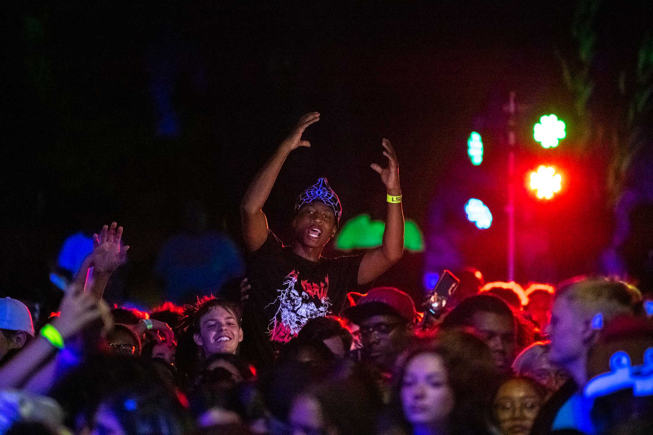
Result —
POLYGON ((437 316, 373 287, 404 246, 389 141, 387 166, 371 166, 387 193, 380 247, 321 256, 342 215, 324 178, 299 196, 281 243, 262 208, 317 121, 300 119, 242 200, 236 297, 109 307, 104 288, 129 248, 114 222, 93 235, 58 312, 33 318, 0 299, 0 433, 653 433, 653 323, 634 286, 579 277, 524 291, 466 270, 437 316))

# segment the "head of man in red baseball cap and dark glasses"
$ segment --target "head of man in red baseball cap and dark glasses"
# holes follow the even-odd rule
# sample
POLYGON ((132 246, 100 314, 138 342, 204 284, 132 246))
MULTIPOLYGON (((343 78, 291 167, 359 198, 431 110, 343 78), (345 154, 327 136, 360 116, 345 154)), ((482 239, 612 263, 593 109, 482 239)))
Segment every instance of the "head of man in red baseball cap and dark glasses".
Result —
POLYGON ((389 375, 397 357, 413 342, 417 320, 413 299, 396 288, 373 288, 343 314, 360 327, 362 349, 355 351, 357 359, 389 375))

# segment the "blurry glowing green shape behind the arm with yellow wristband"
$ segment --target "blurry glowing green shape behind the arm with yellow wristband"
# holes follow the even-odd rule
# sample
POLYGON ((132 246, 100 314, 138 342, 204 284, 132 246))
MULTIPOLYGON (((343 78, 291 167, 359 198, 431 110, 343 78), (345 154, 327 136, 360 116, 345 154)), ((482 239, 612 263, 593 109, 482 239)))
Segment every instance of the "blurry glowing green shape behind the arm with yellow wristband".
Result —
MULTIPOLYGON (((370 215, 358 215, 345 222, 336 236, 336 249, 368 249, 381 246, 385 223, 372 220, 370 215)), ((413 220, 404 224, 404 247, 411 252, 424 250, 422 232, 413 220)))

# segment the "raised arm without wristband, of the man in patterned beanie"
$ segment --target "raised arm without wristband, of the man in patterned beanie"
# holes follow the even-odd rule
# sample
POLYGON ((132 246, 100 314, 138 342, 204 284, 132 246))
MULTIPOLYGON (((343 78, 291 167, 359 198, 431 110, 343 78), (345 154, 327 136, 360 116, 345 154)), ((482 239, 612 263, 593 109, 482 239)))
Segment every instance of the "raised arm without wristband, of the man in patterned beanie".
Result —
POLYGON ((317 112, 306 113, 302 116, 291 135, 281 142, 270 160, 264 164, 249 184, 240 203, 240 221, 242 222, 245 245, 249 252, 260 248, 268 237, 268 220, 261 209, 270 196, 270 190, 274 186, 283 162, 293 149, 311 146, 308 141, 302 140, 302 133, 306 127, 319 120, 320 114, 317 112))

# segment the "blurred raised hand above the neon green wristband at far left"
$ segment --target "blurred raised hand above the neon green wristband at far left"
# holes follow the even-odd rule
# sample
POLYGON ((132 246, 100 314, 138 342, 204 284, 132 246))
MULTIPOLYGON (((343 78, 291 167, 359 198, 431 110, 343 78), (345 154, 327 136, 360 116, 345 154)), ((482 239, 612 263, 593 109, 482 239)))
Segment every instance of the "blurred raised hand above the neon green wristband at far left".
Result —
MULTIPOLYGON (((108 308, 106 303, 98 301, 90 293, 84 292, 84 285, 72 282, 59 305, 59 317, 52 321, 61 337, 66 340, 84 330, 84 327, 96 320, 104 320, 108 308)), ((105 323, 105 322, 103 322, 105 323)))

